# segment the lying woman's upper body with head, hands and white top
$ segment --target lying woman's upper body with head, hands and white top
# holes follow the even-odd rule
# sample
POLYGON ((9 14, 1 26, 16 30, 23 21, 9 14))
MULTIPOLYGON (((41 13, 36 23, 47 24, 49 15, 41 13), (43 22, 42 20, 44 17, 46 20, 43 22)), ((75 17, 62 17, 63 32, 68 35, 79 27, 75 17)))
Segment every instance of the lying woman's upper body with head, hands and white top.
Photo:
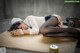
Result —
POLYGON ((44 23, 44 17, 27 16, 24 21, 20 18, 13 18, 9 31, 13 35, 39 34, 39 28, 44 23), (40 23, 40 24, 39 24, 40 23))

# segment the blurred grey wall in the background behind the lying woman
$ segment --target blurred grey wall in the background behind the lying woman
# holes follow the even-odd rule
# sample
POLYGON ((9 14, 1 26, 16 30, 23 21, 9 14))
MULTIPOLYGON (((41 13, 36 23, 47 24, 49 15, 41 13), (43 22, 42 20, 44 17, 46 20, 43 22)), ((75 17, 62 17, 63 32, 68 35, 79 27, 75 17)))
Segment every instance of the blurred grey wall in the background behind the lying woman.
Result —
POLYGON ((20 17, 27 15, 46 16, 59 14, 80 17, 80 3, 65 3, 64 0, 0 0, 0 18, 20 17))

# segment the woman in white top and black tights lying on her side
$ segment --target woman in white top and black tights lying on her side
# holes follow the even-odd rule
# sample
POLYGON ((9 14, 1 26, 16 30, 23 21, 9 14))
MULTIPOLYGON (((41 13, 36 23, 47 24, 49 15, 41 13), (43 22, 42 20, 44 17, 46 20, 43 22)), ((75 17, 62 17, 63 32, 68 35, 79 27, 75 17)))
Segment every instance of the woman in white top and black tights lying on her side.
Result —
MULTIPOLYGON (((32 34, 54 34, 71 33, 80 34, 75 28, 64 28, 61 25, 61 17, 53 14, 45 17, 27 16, 23 21, 20 18, 13 18, 9 31, 14 35, 32 35, 32 34)), ((47 35, 45 35, 47 36, 47 35)))

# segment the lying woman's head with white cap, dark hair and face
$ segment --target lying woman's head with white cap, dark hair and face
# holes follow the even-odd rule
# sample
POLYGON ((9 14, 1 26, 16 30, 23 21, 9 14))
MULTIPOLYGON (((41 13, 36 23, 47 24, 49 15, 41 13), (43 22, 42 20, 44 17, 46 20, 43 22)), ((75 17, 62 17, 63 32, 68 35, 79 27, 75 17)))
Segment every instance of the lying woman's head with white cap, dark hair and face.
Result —
POLYGON ((28 26, 20 18, 13 18, 11 20, 11 24, 12 26, 8 31, 12 31, 16 29, 28 29, 28 26))

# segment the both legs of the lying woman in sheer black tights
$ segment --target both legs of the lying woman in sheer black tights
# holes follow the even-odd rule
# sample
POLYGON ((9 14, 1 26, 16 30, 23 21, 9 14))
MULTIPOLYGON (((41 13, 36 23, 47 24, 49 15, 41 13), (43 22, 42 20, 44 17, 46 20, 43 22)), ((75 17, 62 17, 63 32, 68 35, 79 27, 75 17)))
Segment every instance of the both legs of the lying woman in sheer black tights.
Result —
POLYGON ((80 31, 75 28, 61 28, 57 26, 58 20, 55 17, 50 18, 46 21, 40 28, 40 33, 42 34, 54 34, 54 33, 63 33, 68 32, 71 34, 79 34, 80 31))

